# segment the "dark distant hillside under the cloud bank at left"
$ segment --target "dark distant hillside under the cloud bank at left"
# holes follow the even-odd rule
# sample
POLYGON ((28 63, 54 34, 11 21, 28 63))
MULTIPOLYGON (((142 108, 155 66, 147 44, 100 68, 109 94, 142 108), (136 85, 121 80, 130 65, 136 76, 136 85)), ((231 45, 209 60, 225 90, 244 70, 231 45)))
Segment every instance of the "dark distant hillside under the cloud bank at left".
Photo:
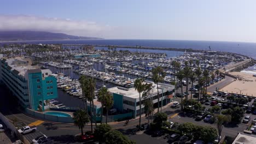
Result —
POLYGON ((16 40, 63 40, 63 39, 102 39, 94 37, 78 37, 64 33, 34 32, 34 31, 0 31, 0 41, 16 40))

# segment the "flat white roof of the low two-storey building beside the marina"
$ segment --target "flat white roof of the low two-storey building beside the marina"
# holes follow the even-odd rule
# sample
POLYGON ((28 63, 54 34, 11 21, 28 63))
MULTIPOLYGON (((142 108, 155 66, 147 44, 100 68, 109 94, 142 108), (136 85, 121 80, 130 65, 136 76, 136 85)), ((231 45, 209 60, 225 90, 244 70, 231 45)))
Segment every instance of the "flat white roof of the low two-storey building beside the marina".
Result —
MULTIPOLYGON (((153 83, 151 81, 145 81, 146 83, 153 83)), ((159 88, 159 93, 162 93, 163 91, 172 91, 174 89, 173 85, 168 85, 165 83, 158 83, 158 88, 159 88)), ((135 88, 124 88, 124 87, 113 87, 113 88, 109 88, 108 89, 110 93, 117 93, 120 95, 124 95, 126 97, 130 97, 130 98, 134 98, 137 99, 139 98, 139 93, 137 92, 137 90, 135 90, 135 88)), ((158 89, 156 88, 155 83, 153 83, 153 88, 152 91, 150 93, 157 93, 158 89)))

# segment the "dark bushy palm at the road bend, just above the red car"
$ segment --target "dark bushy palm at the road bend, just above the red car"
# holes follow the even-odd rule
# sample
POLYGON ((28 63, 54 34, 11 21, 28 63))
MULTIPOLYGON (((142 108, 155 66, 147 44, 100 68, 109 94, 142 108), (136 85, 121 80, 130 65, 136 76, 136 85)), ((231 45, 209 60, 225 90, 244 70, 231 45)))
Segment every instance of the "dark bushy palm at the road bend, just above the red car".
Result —
POLYGON ((83 128, 86 123, 89 122, 89 118, 85 110, 79 109, 73 113, 74 124, 81 129, 81 134, 83 135, 83 128))

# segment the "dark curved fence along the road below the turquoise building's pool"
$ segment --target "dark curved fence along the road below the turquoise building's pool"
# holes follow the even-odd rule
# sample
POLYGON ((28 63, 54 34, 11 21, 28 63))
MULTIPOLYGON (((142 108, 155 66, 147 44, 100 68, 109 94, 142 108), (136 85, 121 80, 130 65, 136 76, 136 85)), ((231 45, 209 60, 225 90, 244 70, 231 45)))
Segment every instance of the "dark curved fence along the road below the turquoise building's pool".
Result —
POLYGON ((72 117, 58 117, 53 115, 47 115, 44 113, 36 112, 30 109, 26 109, 26 113, 32 117, 36 117, 45 121, 58 122, 58 123, 73 123, 72 117))

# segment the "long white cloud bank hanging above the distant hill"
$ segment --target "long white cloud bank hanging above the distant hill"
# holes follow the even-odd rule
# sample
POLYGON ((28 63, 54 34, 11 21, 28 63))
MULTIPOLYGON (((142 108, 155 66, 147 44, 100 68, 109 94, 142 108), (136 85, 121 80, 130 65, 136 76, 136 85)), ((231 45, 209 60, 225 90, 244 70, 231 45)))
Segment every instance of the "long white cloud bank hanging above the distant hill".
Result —
POLYGON ((0 15, 0 21, 0 31, 46 31, 98 37, 108 29, 96 22, 30 15, 0 15))

